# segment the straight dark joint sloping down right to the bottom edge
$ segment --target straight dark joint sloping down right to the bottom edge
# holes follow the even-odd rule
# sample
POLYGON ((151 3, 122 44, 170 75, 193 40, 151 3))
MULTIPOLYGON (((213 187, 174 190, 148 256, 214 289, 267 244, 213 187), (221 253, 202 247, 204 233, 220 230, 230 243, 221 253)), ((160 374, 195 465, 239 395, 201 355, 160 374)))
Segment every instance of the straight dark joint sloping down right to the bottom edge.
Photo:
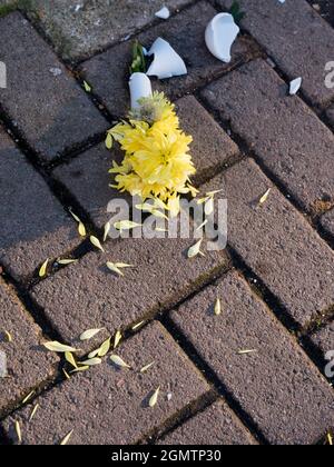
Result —
MULTIPOLYGON (((177 308, 176 308, 177 309, 177 308)), ((269 441, 263 435, 258 425, 253 420, 249 414, 247 414, 238 403, 238 400, 233 396, 233 394, 227 389, 224 381, 218 377, 214 369, 202 358, 198 354, 195 346, 186 338, 183 331, 178 326, 171 321, 171 319, 166 316, 160 319, 161 325, 167 329, 167 331, 173 336, 179 347, 193 361, 193 364, 205 375, 206 380, 216 388, 218 394, 224 397, 228 407, 237 416, 237 418, 243 423, 243 425, 250 431, 256 440, 262 445, 269 445, 269 441)))

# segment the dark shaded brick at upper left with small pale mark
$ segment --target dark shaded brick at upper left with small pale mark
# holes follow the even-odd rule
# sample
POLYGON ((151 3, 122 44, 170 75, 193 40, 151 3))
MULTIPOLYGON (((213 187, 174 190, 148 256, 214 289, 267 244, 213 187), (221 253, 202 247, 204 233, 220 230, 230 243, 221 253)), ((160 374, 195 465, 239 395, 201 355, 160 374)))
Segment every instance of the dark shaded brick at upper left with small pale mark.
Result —
POLYGON ((107 128, 85 92, 20 13, 0 19, 7 89, 0 103, 47 160, 107 128), (8 47, 10 44, 10 47, 8 47))

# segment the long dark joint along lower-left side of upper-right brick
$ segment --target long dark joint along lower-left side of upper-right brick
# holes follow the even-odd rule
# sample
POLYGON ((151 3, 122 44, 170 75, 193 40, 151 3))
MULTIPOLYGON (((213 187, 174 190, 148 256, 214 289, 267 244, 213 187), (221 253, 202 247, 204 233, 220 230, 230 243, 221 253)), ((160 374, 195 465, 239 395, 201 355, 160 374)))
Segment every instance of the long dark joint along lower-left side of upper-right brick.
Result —
MULTIPOLYGON (((321 215, 315 215, 310 209, 305 209, 301 205, 301 202, 294 197, 293 193, 288 190, 288 188, 285 186, 285 183, 279 180, 279 178, 268 169, 268 167, 265 165, 264 161, 261 160, 261 158, 257 156, 257 153, 254 151, 254 149, 250 149, 247 142, 237 133, 234 131, 234 129, 230 127, 229 122, 226 120, 223 120, 219 112, 215 111, 210 105, 206 101, 204 97, 202 97, 199 93, 195 93, 196 99, 200 102, 200 105, 210 113, 210 116, 216 120, 216 122, 223 128, 225 132, 228 133, 230 139, 237 145, 239 148, 239 151, 245 155, 245 157, 250 157, 255 160, 255 162, 259 166, 261 170, 265 173, 265 176, 273 182, 273 185, 278 188, 278 190, 282 192, 282 195, 292 203, 292 206, 303 216, 304 219, 307 220, 310 226, 317 232, 317 235, 322 238, 322 240, 331 248, 333 249, 333 242, 332 236, 326 232, 323 228, 320 226, 320 218, 324 213, 331 211, 332 209, 328 209, 327 211, 322 212, 321 215)), ((216 173, 218 176, 219 173, 216 173)))

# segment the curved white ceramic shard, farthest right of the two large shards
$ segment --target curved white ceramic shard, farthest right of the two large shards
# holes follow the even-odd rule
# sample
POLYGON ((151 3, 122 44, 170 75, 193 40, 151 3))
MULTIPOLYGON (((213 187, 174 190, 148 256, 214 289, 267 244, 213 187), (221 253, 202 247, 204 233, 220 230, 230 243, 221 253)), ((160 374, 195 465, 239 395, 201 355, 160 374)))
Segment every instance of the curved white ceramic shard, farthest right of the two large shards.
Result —
POLYGON ((229 63, 230 49, 240 28, 229 13, 219 13, 208 23, 205 31, 205 42, 209 51, 218 60, 229 63))

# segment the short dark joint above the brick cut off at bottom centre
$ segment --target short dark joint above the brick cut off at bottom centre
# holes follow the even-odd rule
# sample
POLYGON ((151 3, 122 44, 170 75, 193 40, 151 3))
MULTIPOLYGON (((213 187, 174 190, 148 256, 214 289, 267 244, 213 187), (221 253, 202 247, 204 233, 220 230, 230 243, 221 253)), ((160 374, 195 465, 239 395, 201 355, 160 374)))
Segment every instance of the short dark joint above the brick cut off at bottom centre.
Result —
POLYGON ((183 407, 170 418, 165 420, 159 427, 154 428, 150 433, 144 435, 139 441, 136 443, 136 445, 155 445, 163 437, 167 436, 167 434, 183 426, 187 420, 196 417, 196 415, 210 407, 210 405, 216 403, 218 399, 219 396, 215 388, 210 388, 207 393, 199 396, 199 398, 193 400, 190 404, 188 404, 188 406, 183 407))

